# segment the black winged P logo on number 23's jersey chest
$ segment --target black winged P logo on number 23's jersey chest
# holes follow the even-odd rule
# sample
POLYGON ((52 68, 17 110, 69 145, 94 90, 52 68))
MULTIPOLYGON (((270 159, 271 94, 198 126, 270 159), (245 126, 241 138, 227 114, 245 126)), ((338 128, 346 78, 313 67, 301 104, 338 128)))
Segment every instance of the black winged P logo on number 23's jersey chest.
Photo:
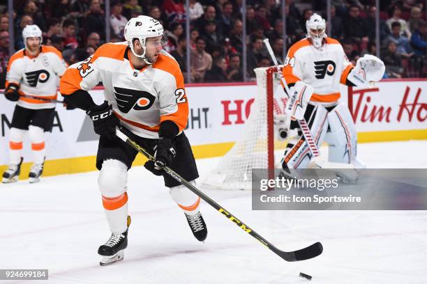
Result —
POLYGON ((156 97, 144 90, 119 87, 114 87, 114 97, 116 97, 117 107, 122 113, 128 113, 130 109, 135 109, 135 111, 149 109, 156 100, 156 97))

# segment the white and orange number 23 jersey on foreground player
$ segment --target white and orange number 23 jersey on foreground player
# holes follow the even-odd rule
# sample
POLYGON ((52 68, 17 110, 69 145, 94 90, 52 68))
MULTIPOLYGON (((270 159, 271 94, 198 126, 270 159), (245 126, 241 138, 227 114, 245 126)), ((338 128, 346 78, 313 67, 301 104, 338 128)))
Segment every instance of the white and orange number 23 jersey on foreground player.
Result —
POLYGON ((164 120, 172 120, 181 132, 187 125, 188 102, 177 61, 162 51, 156 63, 135 70, 129 53, 126 42, 102 45, 93 56, 68 68, 61 78, 61 94, 91 90, 102 81, 105 100, 134 134, 157 139, 164 120))

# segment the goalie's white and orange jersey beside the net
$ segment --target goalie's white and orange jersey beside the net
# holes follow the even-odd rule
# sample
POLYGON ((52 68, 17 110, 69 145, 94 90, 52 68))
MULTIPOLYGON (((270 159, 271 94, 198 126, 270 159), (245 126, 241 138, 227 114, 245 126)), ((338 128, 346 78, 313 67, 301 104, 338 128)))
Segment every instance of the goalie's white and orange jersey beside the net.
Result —
POLYGON ((287 52, 283 76, 287 84, 303 81, 313 86, 311 102, 331 104, 340 98, 340 84, 345 84, 353 67, 338 40, 327 38, 317 49, 304 38, 287 52))

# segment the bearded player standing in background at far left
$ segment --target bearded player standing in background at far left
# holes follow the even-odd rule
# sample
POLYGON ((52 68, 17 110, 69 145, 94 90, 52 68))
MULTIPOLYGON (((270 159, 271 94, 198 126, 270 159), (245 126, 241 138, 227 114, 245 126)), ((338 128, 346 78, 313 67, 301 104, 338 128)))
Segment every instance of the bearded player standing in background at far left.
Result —
POLYGON ((25 48, 10 57, 4 91, 6 99, 17 102, 9 134, 10 165, 3 173, 5 183, 19 178, 25 130, 29 132, 34 157, 29 182, 40 180, 45 161, 45 132, 51 131, 54 120, 55 103, 48 99, 56 100, 58 77, 67 68, 61 52, 41 44, 42 31, 38 26, 27 25, 22 38, 25 48))

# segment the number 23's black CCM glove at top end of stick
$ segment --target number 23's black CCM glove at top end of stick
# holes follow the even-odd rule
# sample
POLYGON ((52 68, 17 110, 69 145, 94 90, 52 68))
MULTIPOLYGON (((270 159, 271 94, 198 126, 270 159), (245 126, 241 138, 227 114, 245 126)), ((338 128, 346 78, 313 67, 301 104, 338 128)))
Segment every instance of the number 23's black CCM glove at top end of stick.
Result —
POLYGON ((93 122, 93 130, 96 134, 107 136, 111 140, 116 138, 116 126, 119 125, 119 118, 114 116, 112 106, 107 101, 89 108, 86 113, 93 122))

